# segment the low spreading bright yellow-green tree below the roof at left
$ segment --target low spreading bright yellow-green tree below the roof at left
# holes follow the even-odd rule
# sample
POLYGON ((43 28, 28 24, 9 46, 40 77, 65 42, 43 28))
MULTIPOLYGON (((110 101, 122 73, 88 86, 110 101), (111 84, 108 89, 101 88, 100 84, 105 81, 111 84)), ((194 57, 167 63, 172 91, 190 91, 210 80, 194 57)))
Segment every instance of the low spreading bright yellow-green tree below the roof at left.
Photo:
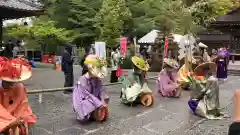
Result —
MULTIPOLYGON (((55 48, 74 39, 72 31, 65 28, 56 28, 54 21, 40 21, 36 19, 32 27, 14 25, 6 28, 6 34, 12 38, 25 40, 30 48, 41 48, 49 45, 55 48)), ((42 49, 42 48, 41 48, 42 49)), ((56 51, 54 49, 50 51, 56 51)))

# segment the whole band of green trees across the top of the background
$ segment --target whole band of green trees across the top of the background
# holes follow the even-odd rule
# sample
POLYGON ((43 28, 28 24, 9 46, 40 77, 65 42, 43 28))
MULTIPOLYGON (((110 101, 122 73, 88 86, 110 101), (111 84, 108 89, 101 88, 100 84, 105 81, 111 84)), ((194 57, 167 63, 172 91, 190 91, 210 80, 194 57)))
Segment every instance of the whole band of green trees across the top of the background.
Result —
POLYGON ((236 0, 42 0, 45 13, 31 27, 4 29, 5 38, 20 38, 30 48, 70 42, 87 46, 120 36, 141 37, 152 29, 163 33, 197 33, 217 16, 240 7, 236 0))

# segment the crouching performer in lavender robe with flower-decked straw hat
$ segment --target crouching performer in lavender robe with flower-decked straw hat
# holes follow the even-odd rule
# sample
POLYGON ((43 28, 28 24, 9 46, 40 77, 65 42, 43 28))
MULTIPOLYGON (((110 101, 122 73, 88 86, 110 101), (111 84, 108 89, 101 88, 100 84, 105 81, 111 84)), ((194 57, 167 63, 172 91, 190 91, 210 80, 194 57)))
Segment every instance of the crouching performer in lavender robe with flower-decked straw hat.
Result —
POLYGON ((107 76, 106 62, 90 54, 84 64, 88 67, 88 72, 82 75, 74 86, 73 108, 79 121, 103 121, 108 117, 109 102, 109 96, 101 81, 107 76))

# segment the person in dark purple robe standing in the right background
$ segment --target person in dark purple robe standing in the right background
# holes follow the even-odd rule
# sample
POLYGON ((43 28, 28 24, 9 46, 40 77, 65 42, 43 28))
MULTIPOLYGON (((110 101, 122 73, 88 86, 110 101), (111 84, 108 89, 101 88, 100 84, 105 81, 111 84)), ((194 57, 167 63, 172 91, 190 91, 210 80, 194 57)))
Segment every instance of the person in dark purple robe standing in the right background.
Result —
POLYGON ((217 64, 217 78, 219 80, 226 80, 228 74, 228 58, 227 52, 224 50, 219 50, 218 57, 216 59, 217 64))

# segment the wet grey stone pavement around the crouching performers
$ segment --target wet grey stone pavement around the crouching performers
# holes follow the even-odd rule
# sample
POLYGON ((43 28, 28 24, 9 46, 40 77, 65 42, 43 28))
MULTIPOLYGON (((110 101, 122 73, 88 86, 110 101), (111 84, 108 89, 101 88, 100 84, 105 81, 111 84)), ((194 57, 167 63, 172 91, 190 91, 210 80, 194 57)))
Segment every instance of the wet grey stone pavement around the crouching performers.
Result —
MULTIPOLYGON (((76 78, 80 68, 75 69, 76 78)), ((154 76, 156 73, 149 73, 154 76)), ((63 86, 63 73, 49 69, 35 69, 33 77, 24 82, 28 90, 63 86)), ((109 77, 104 79, 108 82, 109 77)), ((225 112, 232 116, 232 95, 240 88, 240 77, 230 76, 220 85, 220 102, 225 112)), ((121 85, 107 87, 110 100, 110 117, 103 123, 80 124, 75 119, 71 95, 62 92, 28 95, 33 111, 38 116, 32 135, 226 135, 231 118, 204 120, 192 115, 187 101, 188 92, 180 99, 163 98, 155 92, 155 81, 149 80, 149 87, 155 94, 152 107, 128 107, 120 102, 121 85)))

